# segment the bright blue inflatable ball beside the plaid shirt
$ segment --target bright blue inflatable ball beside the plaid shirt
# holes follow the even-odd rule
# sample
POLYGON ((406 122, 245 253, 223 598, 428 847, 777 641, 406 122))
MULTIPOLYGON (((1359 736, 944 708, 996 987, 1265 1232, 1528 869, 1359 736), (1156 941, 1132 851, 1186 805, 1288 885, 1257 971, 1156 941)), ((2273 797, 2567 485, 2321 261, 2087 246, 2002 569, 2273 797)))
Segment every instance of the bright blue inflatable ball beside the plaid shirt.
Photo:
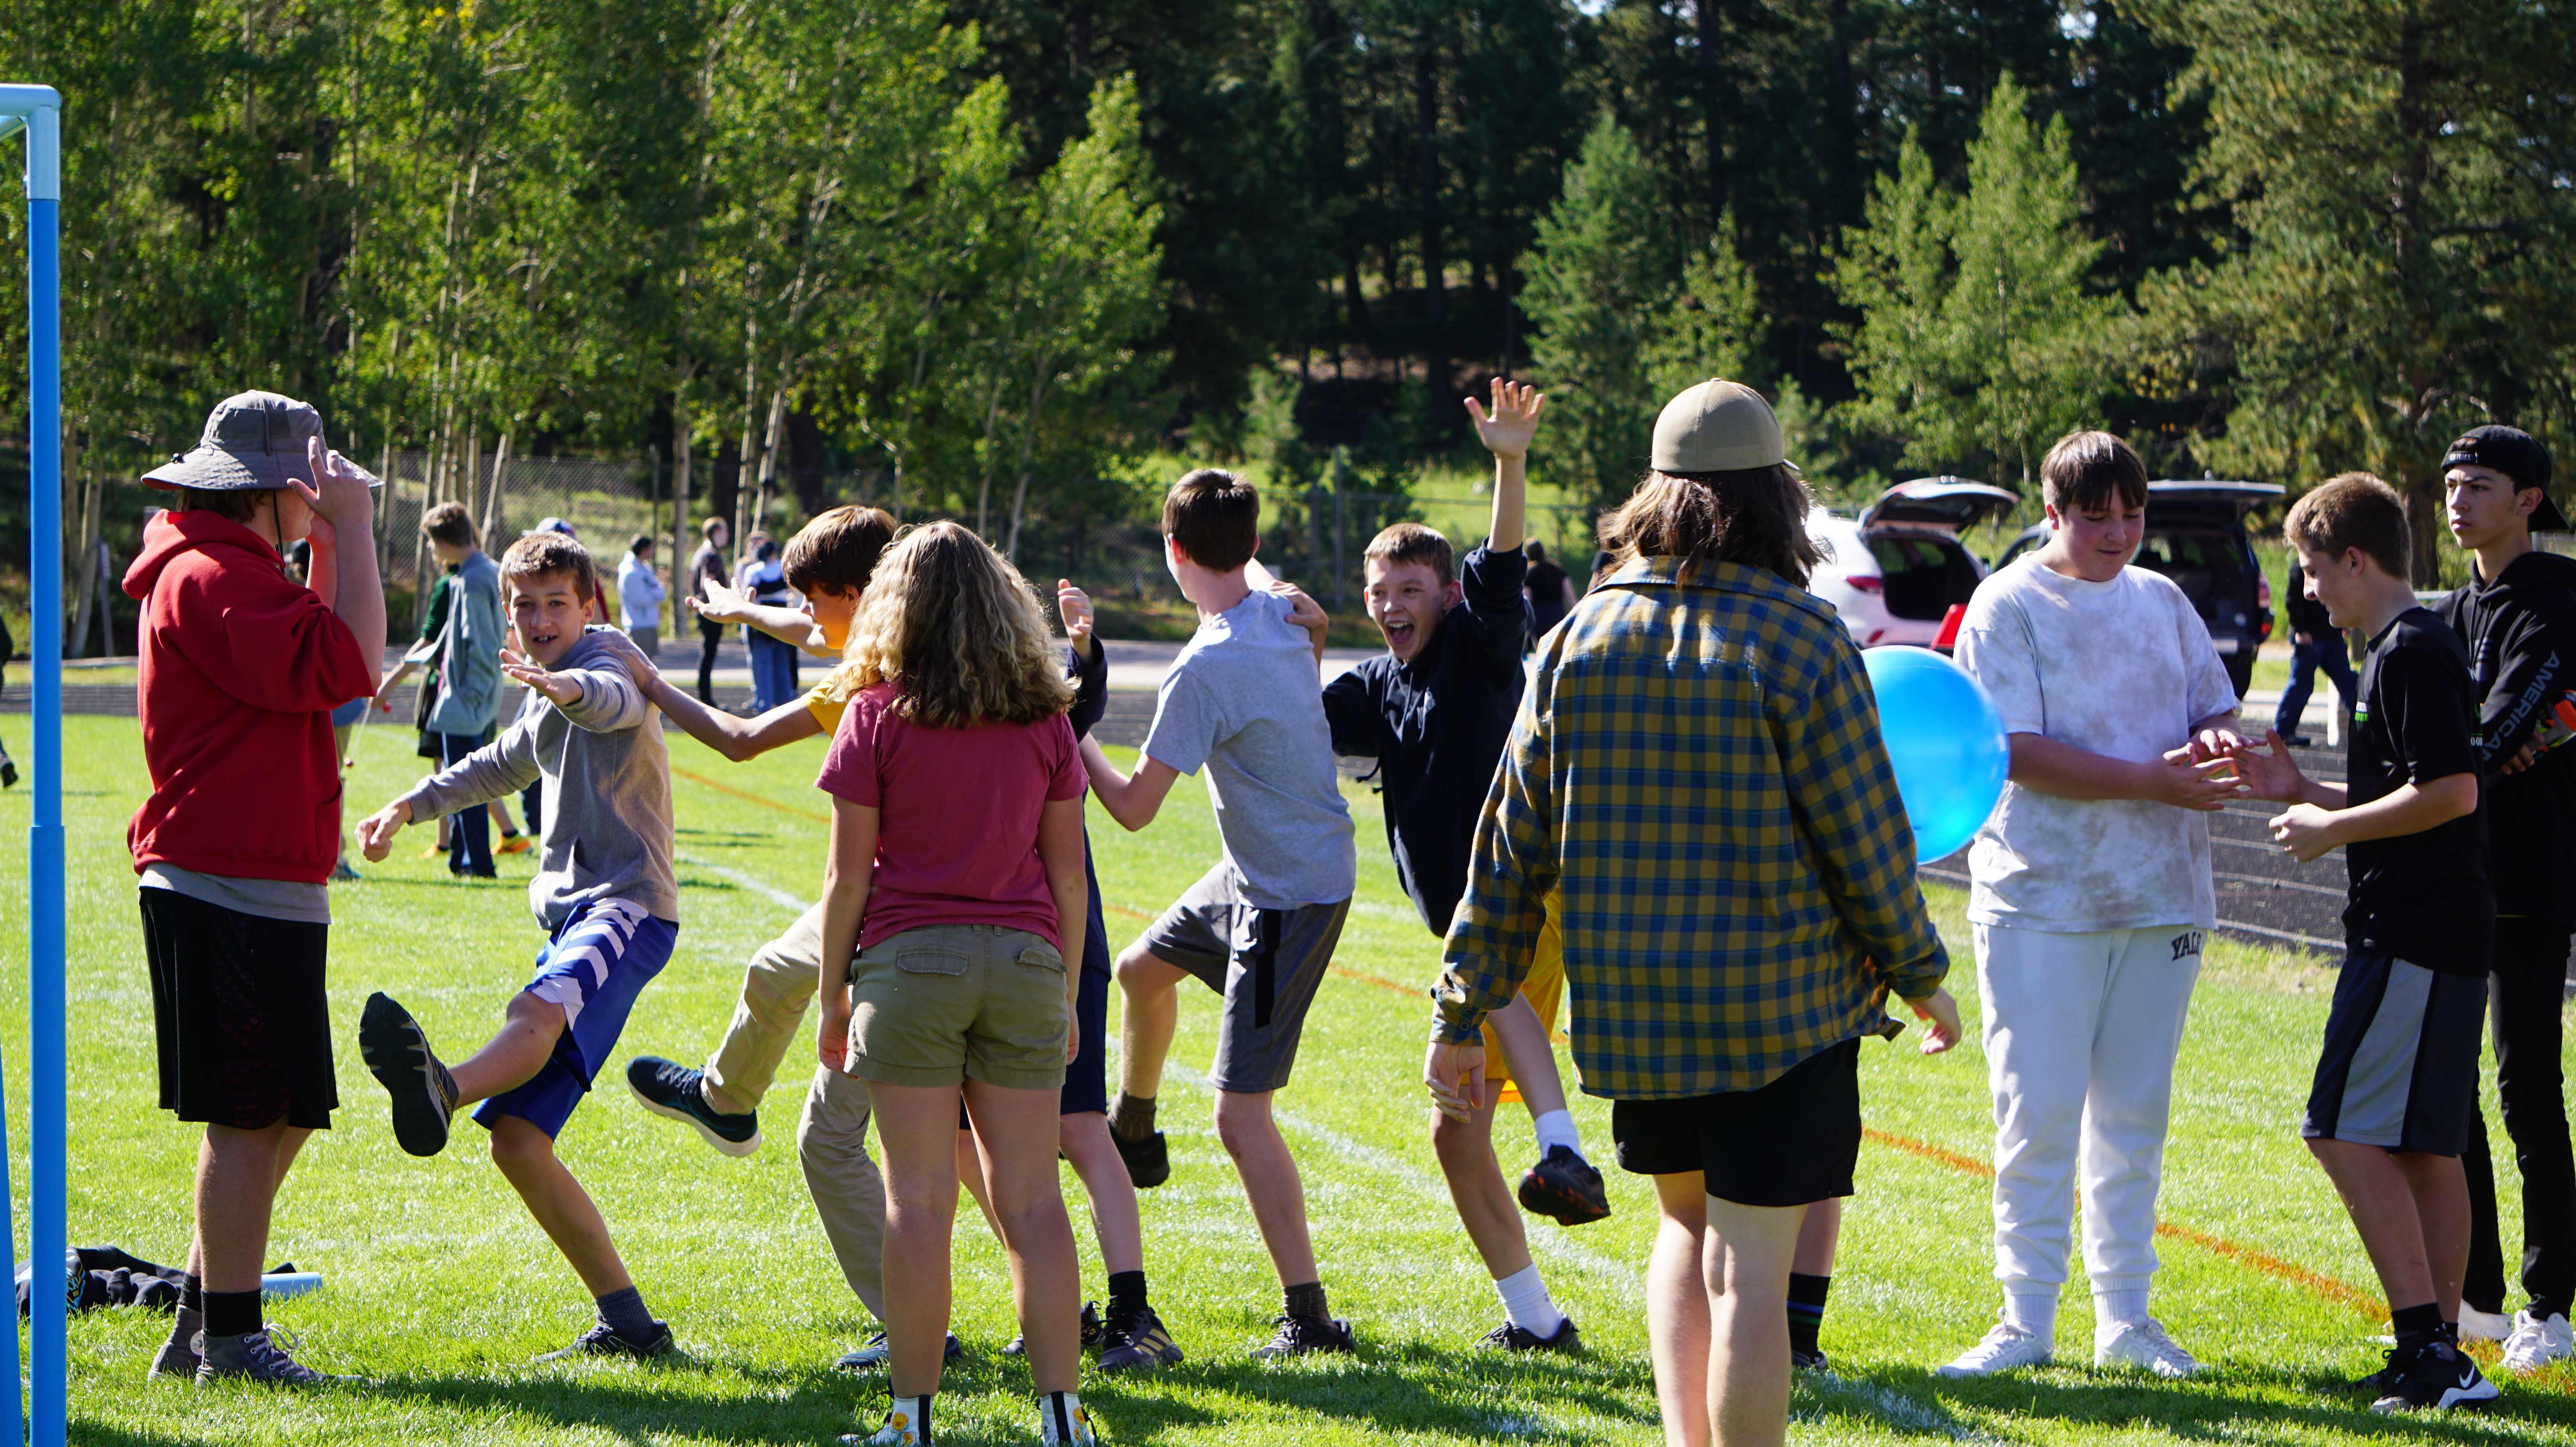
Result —
POLYGON ((1914 824, 1914 857, 1945 860, 2004 796, 2012 767, 2004 716, 1968 669, 1932 649, 1865 649, 1860 667, 1878 693, 1878 731, 1914 824))

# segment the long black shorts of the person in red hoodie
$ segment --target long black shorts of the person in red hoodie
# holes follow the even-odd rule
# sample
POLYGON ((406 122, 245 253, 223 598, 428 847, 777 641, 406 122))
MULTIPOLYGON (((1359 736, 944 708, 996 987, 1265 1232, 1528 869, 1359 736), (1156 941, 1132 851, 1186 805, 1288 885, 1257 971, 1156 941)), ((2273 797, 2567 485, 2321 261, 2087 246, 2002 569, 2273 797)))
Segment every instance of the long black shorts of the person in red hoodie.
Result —
POLYGON ((175 888, 139 888, 152 968, 160 1105, 180 1120, 330 1130, 322 963, 330 924, 265 919, 175 888))

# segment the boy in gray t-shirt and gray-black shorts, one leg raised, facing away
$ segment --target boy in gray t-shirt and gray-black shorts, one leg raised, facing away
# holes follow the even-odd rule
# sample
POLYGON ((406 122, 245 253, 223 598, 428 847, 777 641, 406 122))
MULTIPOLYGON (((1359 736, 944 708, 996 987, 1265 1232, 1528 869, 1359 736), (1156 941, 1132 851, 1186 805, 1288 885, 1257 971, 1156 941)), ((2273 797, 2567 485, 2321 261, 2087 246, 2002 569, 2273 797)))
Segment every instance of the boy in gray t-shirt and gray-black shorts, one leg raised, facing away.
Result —
POLYGON ((1126 829, 1154 821, 1172 780, 1208 770, 1224 857, 1118 955, 1126 991, 1110 1135, 1139 1187, 1172 1174, 1154 1092, 1180 1022, 1180 981, 1224 996, 1216 1035, 1216 1133, 1244 1177, 1252 1220, 1285 1287, 1278 1336, 1257 1357, 1350 1352, 1306 1233, 1306 1187, 1270 1115, 1288 1084, 1306 1007, 1342 940, 1358 875, 1350 806, 1332 772, 1316 693, 1316 644, 1291 597, 1244 577, 1260 541, 1260 494, 1200 469, 1162 502, 1164 551, 1198 633, 1172 662, 1136 775, 1082 744, 1100 806, 1126 829))

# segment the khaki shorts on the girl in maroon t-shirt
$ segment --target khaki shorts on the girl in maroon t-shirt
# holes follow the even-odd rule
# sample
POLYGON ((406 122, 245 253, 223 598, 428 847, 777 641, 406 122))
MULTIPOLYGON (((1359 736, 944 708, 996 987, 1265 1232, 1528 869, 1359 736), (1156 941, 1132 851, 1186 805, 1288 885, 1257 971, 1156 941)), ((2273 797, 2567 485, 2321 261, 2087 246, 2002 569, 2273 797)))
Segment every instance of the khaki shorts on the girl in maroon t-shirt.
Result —
POLYGON ((930 924, 850 960, 850 1074, 1064 1089, 1064 955, 1025 929, 930 924))

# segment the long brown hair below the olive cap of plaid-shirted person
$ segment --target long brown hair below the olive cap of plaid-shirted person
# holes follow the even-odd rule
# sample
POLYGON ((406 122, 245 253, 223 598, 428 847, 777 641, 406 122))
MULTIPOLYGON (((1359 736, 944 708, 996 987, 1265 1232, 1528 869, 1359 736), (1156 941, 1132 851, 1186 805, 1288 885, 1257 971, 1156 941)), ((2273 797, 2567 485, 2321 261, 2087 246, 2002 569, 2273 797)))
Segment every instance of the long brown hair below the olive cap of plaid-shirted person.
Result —
POLYGON ((1824 551, 1806 536, 1816 499, 1788 466, 1741 471, 1649 471, 1628 502, 1602 515, 1602 548, 1613 566, 1633 559, 1682 559, 1690 579, 1703 559, 1744 564, 1806 587, 1824 551))

